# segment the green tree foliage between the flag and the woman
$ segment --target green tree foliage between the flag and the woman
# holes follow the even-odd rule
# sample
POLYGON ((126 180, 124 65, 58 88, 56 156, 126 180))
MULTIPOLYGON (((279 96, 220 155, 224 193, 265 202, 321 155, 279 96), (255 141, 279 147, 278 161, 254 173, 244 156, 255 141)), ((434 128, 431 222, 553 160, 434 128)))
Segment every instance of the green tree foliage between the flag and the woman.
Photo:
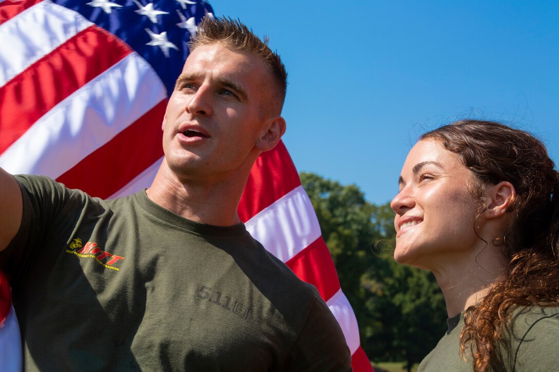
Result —
POLYGON ((421 361, 446 328, 444 299, 428 271, 394 261, 394 212, 367 202, 356 185, 312 173, 301 183, 315 208, 361 344, 373 360, 421 361))

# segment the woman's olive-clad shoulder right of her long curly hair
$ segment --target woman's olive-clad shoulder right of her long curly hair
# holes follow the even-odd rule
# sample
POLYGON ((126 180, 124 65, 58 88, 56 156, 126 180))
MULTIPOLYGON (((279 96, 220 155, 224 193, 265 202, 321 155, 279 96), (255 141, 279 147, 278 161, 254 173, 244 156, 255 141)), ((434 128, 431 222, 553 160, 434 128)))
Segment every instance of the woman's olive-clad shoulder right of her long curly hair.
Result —
POLYGON ((508 330, 511 370, 553 370, 559 365, 559 306, 515 310, 508 330))

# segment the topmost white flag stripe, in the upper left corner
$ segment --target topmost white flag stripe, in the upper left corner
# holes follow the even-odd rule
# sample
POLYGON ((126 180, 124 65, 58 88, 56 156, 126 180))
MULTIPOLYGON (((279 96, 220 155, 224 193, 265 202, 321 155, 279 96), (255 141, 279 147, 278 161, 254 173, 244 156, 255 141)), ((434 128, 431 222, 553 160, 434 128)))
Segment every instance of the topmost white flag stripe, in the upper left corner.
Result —
POLYGON ((93 25, 44 0, 0 25, 0 87, 79 31, 93 25), (40 27, 37 27, 40 25, 40 27))

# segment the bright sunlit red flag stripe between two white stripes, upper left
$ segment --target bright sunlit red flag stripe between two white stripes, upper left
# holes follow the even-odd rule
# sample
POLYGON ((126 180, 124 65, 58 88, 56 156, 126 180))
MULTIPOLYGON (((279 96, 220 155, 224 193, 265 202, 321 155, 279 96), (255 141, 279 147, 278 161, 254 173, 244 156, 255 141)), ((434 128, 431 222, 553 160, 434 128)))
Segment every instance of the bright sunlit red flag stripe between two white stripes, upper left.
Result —
POLYGON ((90 26, 0 88, 0 154, 64 98, 130 54, 130 47, 90 26))

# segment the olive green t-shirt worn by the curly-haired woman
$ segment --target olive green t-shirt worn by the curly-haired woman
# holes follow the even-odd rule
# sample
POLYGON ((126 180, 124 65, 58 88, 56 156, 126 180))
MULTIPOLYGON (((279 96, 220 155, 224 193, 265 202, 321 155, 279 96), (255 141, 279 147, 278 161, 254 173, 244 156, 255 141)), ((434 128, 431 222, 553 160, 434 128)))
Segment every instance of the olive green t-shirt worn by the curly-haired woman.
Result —
MULTIPOLYGON (((467 361, 459 355, 463 313, 448 319, 446 335, 419 364, 418 372, 473 371, 471 356, 467 361)), ((512 313, 511 327, 506 332, 508 347, 501 347, 505 365, 494 371, 556 371, 559 370, 559 308, 519 308, 512 313)))

